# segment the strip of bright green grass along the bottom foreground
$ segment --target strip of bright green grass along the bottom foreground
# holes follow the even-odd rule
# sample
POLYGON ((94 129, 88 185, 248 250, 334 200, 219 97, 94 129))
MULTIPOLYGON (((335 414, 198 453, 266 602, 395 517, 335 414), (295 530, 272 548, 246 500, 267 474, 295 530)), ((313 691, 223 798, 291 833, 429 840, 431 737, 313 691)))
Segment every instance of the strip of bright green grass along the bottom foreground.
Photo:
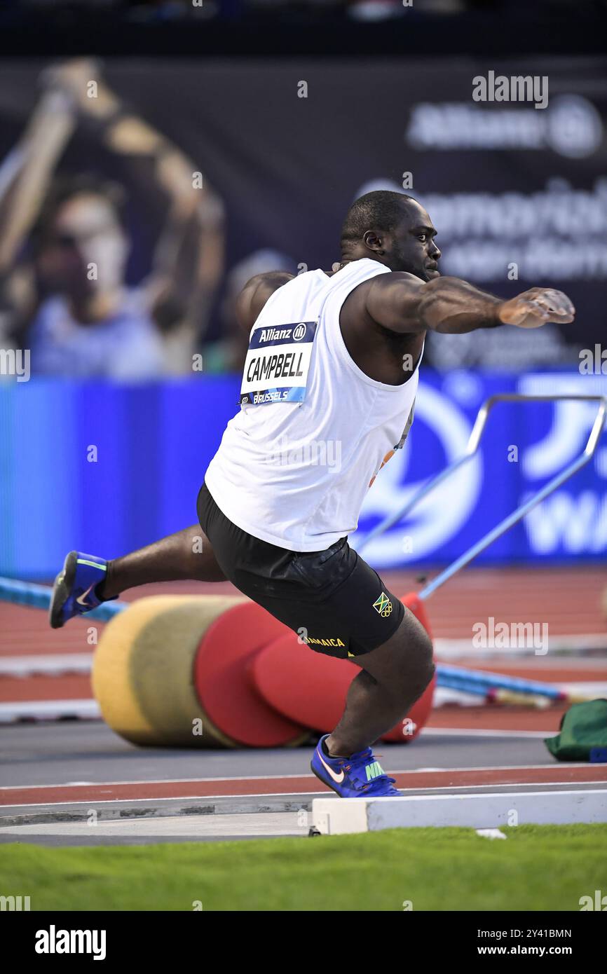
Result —
POLYGON ((32 910, 579 911, 607 892, 607 825, 49 848, 0 846, 0 893, 32 910))

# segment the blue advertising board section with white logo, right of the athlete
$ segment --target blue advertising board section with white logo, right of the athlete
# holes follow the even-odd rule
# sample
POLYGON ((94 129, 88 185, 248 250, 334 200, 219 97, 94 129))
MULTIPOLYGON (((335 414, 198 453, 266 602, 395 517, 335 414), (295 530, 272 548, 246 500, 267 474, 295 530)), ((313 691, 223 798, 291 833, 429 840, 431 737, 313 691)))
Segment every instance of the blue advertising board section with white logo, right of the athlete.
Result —
MULTIPOLYGON (((423 483, 460 457, 477 411, 495 393, 605 395, 607 379, 573 373, 422 372, 405 448, 382 469, 360 515, 357 546, 402 508, 423 483)), ((536 494, 584 450, 595 402, 499 403, 472 460, 440 484, 391 531, 369 543, 374 565, 442 563, 462 554, 536 494)), ((607 556, 607 435, 593 460, 532 510, 478 561, 569 561, 607 556)))

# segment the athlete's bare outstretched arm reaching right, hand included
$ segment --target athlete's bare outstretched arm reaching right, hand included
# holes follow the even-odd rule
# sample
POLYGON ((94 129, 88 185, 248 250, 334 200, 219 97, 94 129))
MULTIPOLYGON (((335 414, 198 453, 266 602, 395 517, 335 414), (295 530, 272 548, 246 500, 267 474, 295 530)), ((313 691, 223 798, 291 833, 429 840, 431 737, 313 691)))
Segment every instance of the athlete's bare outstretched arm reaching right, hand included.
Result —
POLYGON ((531 287, 504 301, 459 278, 424 282, 399 272, 368 281, 364 301, 370 318, 401 334, 427 330, 462 334, 500 324, 538 328, 547 321, 564 324, 575 316, 567 295, 550 287, 531 287))

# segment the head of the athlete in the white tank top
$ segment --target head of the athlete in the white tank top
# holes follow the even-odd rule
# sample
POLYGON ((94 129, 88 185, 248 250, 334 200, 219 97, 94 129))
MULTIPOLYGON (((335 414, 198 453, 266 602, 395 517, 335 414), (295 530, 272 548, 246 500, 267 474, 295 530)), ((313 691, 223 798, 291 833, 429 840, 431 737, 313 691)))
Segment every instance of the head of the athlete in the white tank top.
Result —
POLYGON ((438 276, 436 230, 423 206, 405 193, 377 190, 356 200, 341 230, 342 262, 370 257, 422 281, 438 276))

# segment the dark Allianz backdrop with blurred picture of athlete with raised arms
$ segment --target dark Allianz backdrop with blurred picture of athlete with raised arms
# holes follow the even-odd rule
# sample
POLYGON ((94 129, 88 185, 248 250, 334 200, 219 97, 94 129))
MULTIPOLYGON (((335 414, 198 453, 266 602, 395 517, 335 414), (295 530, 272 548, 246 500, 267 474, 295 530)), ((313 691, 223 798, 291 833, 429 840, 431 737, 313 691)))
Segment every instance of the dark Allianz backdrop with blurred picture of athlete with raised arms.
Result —
POLYGON ((579 363, 607 331, 607 59, 494 63, 548 78, 545 108, 474 101, 491 64, 5 59, 0 347, 32 374, 238 371, 248 278, 330 269, 348 206, 390 188, 430 211, 443 274, 578 308, 575 328, 430 336, 428 364, 579 363))

